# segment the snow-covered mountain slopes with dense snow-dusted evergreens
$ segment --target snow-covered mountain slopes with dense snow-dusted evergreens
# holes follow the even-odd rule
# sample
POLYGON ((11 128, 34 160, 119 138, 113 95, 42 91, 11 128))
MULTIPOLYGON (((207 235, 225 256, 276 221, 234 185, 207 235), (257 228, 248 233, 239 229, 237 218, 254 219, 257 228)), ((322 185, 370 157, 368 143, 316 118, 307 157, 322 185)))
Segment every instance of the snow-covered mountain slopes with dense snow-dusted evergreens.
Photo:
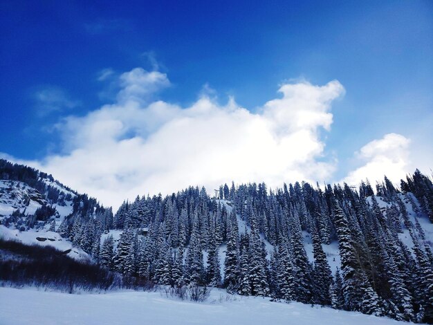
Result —
POLYGON ((433 184, 418 170, 376 191, 189 187, 138 196, 114 215, 29 167, 2 160, 0 176, 0 239, 66 251, 122 277, 117 288, 212 286, 433 322, 433 184))

